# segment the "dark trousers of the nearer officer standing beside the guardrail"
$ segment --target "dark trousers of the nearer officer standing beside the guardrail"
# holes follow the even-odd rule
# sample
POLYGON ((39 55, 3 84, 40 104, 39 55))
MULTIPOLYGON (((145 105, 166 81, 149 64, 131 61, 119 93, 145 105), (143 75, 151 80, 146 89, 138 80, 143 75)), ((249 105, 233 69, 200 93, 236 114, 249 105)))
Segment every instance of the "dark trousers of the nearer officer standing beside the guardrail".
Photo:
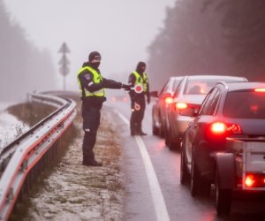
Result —
POLYGON ((82 103, 82 117, 84 140, 82 145, 83 163, 91 163, 95 161, 94 146, 96 141, 96 133, 100 125, 101 111, 99 108, 82 103))

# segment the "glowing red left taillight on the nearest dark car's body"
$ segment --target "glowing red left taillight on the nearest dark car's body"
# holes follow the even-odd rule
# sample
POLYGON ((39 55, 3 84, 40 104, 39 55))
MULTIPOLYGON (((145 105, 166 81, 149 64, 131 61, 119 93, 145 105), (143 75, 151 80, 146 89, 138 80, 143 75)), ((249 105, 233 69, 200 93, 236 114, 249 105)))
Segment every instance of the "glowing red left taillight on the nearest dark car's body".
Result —
POLYGON ((213 135, 230 135, 241 134, 241 126, 238 124, 226 124, 223 122, 215 122, 209 126, 209 132, 213 135))

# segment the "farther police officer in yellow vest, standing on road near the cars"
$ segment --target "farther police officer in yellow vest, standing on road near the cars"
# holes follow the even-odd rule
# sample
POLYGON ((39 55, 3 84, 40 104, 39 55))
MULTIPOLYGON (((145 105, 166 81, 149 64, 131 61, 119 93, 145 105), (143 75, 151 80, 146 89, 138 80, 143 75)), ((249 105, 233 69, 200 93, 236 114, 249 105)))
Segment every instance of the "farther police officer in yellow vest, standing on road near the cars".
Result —
POLYGON ((147 135, 141 128, 141 122, 144 118, 144 112, 147 103, 150 103, 148 76, 146 71, 147 65, 140 61, 136 67, 136 71, 129 76, 129 84, 134 88, 130 90, 132 114, 130 119, 131 135, 147 135))

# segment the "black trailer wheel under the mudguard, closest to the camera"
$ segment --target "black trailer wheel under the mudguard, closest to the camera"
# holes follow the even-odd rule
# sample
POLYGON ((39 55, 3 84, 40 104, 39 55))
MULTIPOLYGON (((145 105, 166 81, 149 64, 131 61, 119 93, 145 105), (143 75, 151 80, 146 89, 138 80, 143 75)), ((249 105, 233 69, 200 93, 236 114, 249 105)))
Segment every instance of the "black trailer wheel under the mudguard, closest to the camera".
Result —
POLYGON ((220 187, 220 176, 216 170, 216 211, 218 215, 228 215, 231 211, 231 189, 220 187))

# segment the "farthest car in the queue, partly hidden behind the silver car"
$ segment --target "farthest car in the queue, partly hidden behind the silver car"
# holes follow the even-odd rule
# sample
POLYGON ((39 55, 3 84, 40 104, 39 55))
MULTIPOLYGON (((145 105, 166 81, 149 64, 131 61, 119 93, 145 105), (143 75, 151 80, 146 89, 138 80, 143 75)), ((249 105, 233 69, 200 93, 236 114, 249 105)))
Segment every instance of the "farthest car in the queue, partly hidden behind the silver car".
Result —
POLYGON ((166 107, 173 101, 172 95, 178 88, 183 77, 173 76, 164 84, 159 92, 156 91, 155 103, 152 106, 152 131, 154 135, 163 137, 165 131, 166 107))

